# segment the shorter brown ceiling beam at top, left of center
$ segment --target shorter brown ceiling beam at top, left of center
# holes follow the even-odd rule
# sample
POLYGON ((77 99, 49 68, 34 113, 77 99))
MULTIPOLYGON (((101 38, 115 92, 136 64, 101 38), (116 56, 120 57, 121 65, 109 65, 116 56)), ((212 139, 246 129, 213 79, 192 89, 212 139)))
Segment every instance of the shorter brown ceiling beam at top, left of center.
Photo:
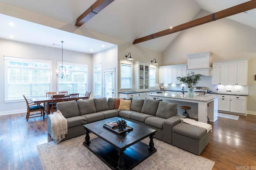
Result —
POLYGON ((90 20, 92 17, 94 17, 96 14, 98 14, 101 10, 106 8, 109 4, 111 4, 114 0, 97 0, 88 8, 82 15, 80 15, 76 19, 76 26, 80 27, 84 23, 86 23, 88 20, 90 20))

